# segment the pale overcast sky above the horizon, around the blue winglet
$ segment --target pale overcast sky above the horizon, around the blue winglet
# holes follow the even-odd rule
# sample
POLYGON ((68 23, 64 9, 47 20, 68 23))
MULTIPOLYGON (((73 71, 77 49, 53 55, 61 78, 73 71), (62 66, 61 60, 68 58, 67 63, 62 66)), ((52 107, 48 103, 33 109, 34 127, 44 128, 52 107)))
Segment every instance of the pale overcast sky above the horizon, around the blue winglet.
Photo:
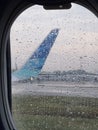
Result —
POLYGON ((98 73, 98 19, 73 4, 70 10, 25 10, 11 29, 12 68, 20 68, 48 33, 60 28, 42 71, 84 69, 98 73))

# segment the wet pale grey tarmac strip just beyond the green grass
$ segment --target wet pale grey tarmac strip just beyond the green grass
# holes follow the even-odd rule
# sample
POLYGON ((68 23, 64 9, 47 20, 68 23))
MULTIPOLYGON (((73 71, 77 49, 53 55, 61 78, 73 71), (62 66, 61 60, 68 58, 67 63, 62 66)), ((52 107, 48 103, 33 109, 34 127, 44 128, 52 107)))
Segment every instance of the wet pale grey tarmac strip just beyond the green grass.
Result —
POLYGON ((12 94, 98 98, 98 84, 66 82, 13 83, 12 94))

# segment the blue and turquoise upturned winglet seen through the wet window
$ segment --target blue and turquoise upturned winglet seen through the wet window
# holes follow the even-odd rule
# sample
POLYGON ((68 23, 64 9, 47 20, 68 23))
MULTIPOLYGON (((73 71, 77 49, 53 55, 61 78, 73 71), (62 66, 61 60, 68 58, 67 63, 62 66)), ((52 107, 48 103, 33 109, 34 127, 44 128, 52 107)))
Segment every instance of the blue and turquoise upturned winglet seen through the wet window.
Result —
POLYGON ((35 50, 32 56, 27 60, 20 70, 12 73, 13 80, 26 80, 37 77, 47 59, 53 43, 59 33, 59 29, 53 29, 35 50))

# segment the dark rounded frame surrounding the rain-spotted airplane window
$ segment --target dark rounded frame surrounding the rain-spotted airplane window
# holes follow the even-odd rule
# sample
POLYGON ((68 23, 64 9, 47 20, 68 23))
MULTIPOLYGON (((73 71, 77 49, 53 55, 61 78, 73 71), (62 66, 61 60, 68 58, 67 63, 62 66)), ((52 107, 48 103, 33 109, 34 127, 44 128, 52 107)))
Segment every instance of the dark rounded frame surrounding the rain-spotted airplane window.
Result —
MULTIPOLYGON (((69 7, 69 3, 71 1, 66 1, 65 7, 69 7)), ((98 1, 97 0, 89 0, 89 1, 72 1, 78 4, 81 4, 88 9, 90 9, 96 16, 98 16, 98 1)), ((1 130, 10 130, 14 129, 12 119, 11 119, 11 83, 10 83, 10 50, 9 50, 9 31, 12 22, 15 17, 23 11, 25 8, 32 4, 41 4, 45 5, 46 8, 58 8, 58 5, 64 4, 62 1, 22 1, 14 0, 2 0, 0 2, 0 129, 1 130), (49 6, 50 5, 50 6, 49 6), (53 5, 53 6, 52 6, 53 5), (57 5, 57 6, 54 6, 57 5), (8 43, 8 44, 7 44, 8 43), (6 48, 7 45, 7 48, 6 48), (6 55, 7 53, 7 55, 6 55), (9 109, 10 105, 10 109, 9 109)))

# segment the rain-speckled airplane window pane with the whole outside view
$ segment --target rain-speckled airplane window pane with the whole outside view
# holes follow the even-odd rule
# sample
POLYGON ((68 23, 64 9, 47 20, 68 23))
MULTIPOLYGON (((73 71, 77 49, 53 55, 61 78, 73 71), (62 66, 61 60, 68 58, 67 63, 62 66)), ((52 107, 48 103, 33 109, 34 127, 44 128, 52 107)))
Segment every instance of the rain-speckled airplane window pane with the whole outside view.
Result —
POLYGON ((98 129, 98 20, 35 5, 11 28, 12 112, 18 130, 98 129))

